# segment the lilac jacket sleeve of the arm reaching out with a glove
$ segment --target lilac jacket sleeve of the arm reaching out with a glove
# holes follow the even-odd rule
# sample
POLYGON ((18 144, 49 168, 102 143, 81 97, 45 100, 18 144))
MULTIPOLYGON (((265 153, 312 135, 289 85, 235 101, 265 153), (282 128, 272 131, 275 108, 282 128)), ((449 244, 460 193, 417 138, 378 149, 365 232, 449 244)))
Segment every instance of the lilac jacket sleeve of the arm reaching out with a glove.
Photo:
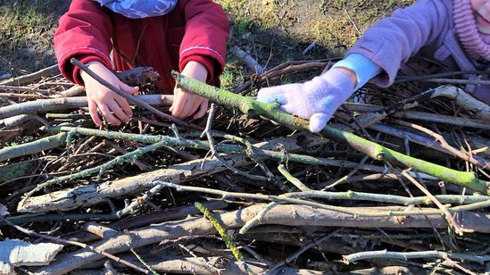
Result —
POLYGON ((419 50, 441 43, 452 24, 452 11, 443 1, 421 0, 366 30, 359 41, 347 51, 361 54, 378 64, 383 72, 370 82, 390 86, 403 63, 419 50))

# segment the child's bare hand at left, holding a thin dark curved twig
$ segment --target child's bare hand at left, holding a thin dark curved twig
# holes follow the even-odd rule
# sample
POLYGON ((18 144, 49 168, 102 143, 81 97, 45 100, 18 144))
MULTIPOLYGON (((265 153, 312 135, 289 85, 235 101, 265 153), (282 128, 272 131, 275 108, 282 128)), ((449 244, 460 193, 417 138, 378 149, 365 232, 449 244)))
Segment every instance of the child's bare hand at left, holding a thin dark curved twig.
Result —
MULTIPOLYGON (((90 62, 87 63, 90 66, 90 70, 94 71, 102 79, 111 83, 115 87, 119 87, 121 91, 133 95, 137 93, 139 87, 130 87, 120 81, 109 69, 107 69, 102 63, 90 62)), ((104 116, 105 120, 114 125, 120 125, 122 122, 129 122, 133 115, 131 107, 128 101, 118 94, 112 92, 111 89, 100 84, 96 79, 90 77, 86 72, 82 71, 81 78, 85 82, 85 89, 87 93, 88 111, 90 117, 96 123, 97 126, 102 125, 102 121, 97 113, 97 108, 104 116)))

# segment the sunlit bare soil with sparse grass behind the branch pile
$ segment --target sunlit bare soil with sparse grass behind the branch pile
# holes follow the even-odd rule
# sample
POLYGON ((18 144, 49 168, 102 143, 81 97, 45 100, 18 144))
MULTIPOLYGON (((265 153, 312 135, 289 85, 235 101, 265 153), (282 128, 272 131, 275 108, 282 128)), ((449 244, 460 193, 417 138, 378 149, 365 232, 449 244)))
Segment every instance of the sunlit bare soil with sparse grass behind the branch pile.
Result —
MULTIPOLYGON (((327 1, 327 0, 254 0, 217 1, 226 7, 232 34, 230 45, 242 47, 270 69, 291 60, 308 60, 341 56, 361 32, 397 6, 411 1, 327 1), (264 12, 269 11, 269 12, 264 12), (244 24, 244 18, 246 22, 244 24), (304 49, 315 42, 307 54, 304 49)), ((58 19, 71 1, 0 0, 2 21, 17 16, 18 27, 0 27, 0 79, 37 71, 54 64, 53 34, 58 19), (34 10, 44 20, 39 25, 23 27, 26 14, 34 10)), ((228 54, 230 63, 237 62, 228 54)))

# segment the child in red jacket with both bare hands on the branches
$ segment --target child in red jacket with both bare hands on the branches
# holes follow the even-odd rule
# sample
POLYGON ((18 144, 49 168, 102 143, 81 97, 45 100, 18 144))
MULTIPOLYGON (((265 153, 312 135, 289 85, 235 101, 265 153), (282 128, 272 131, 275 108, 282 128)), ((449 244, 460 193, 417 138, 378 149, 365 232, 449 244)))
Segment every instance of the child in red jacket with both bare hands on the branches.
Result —
POLYGON ((218 84, 228 31, 227 15, 212 0, 73 0, 54 34, 54 50, 63 76, 86 87, 97 126, 102 125, 97 109, 120 125, 131 118, 131 108, 122 96, 72 66, 71 57, 128 94, 138 87, 122 83, 112 70, 151 66, 162 76, 157 86, 175 95, 172 115, 200 118, 208 100, 177 89, 170 71, 218 84))

